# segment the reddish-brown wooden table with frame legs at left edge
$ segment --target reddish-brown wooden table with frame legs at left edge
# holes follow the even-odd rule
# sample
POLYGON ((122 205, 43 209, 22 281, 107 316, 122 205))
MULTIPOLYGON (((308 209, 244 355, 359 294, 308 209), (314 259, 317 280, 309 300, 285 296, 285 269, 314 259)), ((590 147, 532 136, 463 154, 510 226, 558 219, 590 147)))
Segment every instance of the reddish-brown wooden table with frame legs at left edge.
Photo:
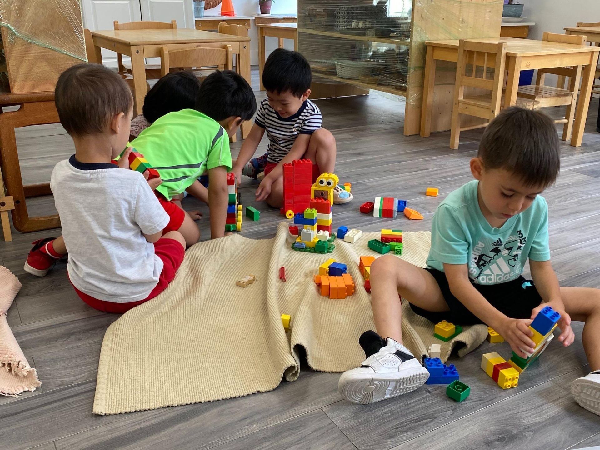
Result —
MULTIPOLYGON (((58 214, 29 217, 25 199, 52 195, 52 191, 50 191, 49 183, 23 186, 17 141, 14 134, 15 128, 60 122, 54 104, 54 91, 31 94, 0 92, 0 106, 14 105, 18 105, 20 108, 16 111, 0 113, 0 166, 8 192, 8 197, 4 197, 5 206, 0 205, 0 211, 11 209, 11 203, 14 202, 14 209, 11 211, 13 225, 22 233, 58 228, 61 226, 58 214)), ((0 197, 3 195, 4 192, 0 192, 0 197)))

